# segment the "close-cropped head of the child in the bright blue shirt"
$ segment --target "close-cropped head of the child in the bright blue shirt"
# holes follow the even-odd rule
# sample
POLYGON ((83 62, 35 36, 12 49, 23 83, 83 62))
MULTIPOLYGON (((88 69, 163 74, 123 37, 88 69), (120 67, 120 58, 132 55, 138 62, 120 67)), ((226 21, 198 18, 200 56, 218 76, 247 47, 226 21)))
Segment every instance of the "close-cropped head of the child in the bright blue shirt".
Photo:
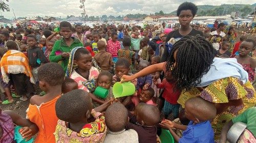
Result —
POLYGON ((200 121, 208 121, 214 119, 216 116, 216 107, 214 104, 200 98, 190 98, 185 102, 185 107, 189 106, 189 112, 200 121))

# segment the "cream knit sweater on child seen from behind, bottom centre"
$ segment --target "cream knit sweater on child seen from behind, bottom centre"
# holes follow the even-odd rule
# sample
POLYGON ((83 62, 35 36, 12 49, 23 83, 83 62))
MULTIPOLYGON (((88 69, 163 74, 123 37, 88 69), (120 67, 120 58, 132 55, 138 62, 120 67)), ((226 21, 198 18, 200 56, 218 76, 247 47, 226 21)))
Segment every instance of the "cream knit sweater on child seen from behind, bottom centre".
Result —
POLYGON ((118 143, 118 142, 120 143, 139 142, 138 133, 133 129, 126 130, 126 131, 125 129, 123 129, 120 132, 111 132, 108 130, 103 143, 118 143))

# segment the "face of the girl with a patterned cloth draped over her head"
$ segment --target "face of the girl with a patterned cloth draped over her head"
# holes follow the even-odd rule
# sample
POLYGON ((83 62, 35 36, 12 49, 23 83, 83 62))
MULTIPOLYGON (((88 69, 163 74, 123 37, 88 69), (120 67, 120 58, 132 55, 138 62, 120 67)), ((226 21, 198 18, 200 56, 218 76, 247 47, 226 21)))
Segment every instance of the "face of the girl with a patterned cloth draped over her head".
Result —
POLYGON ((81 54, 78 60, 75 60, 78 68, 89 71, 92 68, 92 55, 91 54, 81 54))

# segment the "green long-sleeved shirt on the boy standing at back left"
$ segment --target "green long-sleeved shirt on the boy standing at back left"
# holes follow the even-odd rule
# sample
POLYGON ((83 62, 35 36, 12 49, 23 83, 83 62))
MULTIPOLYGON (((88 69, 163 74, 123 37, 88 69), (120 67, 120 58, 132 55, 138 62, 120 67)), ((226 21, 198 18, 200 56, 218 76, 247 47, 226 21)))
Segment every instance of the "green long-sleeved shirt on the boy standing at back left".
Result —
MULTIPOLYGON (((74 38, 73 38, 74 39, 74 38)), ((71 52, 71 50, 75 47, 83 47, 82 43, 78 39, 74 39, 72 44, 68 46, 64 40, 64 38, 61 38, 60 40, 57 40, 53 46, 52 52, 49 55, 49 60, 54 63, 61 62, 61 67, 64 71, 67 70, 68 64, 69 64, 69 58, 62 58, 61 55, 55 55, 56 51, 61 52, 71 52)))

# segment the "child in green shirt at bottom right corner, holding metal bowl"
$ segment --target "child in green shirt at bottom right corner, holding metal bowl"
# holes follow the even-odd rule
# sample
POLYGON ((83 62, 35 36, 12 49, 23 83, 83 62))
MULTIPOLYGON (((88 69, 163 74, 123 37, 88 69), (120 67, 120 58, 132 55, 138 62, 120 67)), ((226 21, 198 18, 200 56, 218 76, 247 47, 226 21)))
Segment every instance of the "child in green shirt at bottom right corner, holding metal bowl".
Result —
POLYGON ((221 131, 220 143, 227 142, 227 132, 230 129, 230 127, 237 122, 242 122, 247 125, 245 131, 240 135, 237 142, 256 142, 255 121, 256 121, 256 107, 254 106, 246 109, 239 116, 234 117, 232 120, 226 123, 226 125, 223 127, 221 131))

